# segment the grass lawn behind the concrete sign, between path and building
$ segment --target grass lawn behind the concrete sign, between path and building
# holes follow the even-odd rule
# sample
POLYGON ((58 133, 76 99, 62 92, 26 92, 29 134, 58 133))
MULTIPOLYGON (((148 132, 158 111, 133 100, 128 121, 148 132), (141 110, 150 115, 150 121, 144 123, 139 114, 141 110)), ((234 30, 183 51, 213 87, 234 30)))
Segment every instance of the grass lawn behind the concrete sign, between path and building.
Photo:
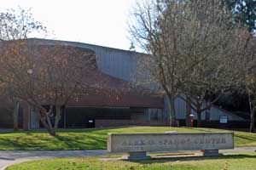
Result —
MULTIPOLYGON (((108 133, 220 132, 211 128, 124 127, 59 130, 55 137, 45 131, 0 133, 0 150, 105 150, 108 133)), ((256 133, 235 132, 235 145, 256 146, 256 133)), ((256 169, 256 167, 255 167, 256 169)))

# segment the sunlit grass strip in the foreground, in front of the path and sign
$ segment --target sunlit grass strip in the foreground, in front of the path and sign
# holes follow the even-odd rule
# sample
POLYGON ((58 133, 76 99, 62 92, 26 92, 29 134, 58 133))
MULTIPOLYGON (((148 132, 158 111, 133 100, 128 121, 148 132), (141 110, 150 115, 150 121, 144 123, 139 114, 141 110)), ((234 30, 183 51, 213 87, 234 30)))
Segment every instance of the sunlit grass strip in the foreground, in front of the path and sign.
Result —
POLYGON ((99 157, 27 161, 7 170, 255 170, 256 154, 183 157, 144 161, 101 161, 99 157))

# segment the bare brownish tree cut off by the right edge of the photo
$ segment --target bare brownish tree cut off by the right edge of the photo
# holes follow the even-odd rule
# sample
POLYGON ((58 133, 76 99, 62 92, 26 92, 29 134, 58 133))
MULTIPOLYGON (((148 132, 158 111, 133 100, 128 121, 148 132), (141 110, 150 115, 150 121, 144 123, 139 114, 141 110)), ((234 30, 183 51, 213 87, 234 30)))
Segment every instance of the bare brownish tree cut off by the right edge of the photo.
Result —
POLYGON ((249 32, 243 32, 240 37, 246 37, 247 42, 242 46, 241 55, 235 55, 227 65, 232 68, 232 74, 239 75, 236 78, 236 89, 247 93, 250 105, 250 132, 255 132, 254 117, 256 110, 256 50, 255 37, 249 32))

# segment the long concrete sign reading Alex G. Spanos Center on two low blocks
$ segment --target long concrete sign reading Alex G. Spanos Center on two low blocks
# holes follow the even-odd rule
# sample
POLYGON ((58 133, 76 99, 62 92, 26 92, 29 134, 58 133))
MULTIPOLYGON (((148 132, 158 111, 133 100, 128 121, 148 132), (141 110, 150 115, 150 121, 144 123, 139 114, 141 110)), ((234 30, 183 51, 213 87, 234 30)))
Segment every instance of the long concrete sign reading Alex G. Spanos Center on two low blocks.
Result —
POLYGON ((146 156, 148 151, 234 149, 234 133, 109 133, 108 151, 129 153, 128 158, 146 156))

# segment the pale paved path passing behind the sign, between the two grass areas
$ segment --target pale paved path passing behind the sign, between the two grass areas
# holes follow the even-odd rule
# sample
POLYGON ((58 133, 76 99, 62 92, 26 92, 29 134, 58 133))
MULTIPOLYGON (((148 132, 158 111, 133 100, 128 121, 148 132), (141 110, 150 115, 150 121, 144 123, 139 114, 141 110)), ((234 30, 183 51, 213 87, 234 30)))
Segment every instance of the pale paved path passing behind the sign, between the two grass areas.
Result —
MULTIPOLYGON (((255 152, 256 147, 241 147, 235 150, 221 150, 221 152, 231 153, 236 151, 255 152)), ((107 155, 107 150, 54 150, 54 151, 26 151, 26 150, 0 150, 0 170, 5 167, 22 161, 32 161, 38 159, 49 159, 57 157, 76 156, 102 156, 107 155)))

